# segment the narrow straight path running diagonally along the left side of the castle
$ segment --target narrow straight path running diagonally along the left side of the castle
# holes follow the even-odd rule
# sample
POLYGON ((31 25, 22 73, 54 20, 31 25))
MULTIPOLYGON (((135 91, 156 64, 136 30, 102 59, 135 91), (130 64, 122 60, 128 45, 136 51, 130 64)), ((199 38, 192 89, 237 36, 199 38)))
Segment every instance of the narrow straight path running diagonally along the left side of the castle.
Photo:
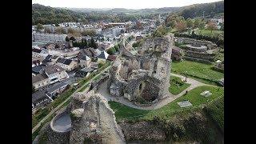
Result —
MULTIPOLYGON (((111 66, 111 65, 110 65, 111 66)), ((94 78, 98 77, 98 75, 104 73, 106 70, 108 70, 110 68, 110 66, 106 67, 104 70, 102 70, 99 74, 96 74, 94 76, 94 78)), ((86 86, 87 84, 89 84, 91 81, 94 80, 94 78, 91 78, 90 81, 86 82, 83 86, 86 86)), ((78 88, 77 90, 74 91, 73 94, 77 93, 79 90, 82 89, 83 86, 80 86, 80 88, 78 88)), ((49 114, 46 115, 45 118, 42 118, 41 122, 38 122, 38 124, 36 126, 34 126, 34 128, 32 129, 32 134, 34 133, 35 130, 38 130, 38 127, 41 126, 41 123, 45 122, 47 118, 49 118, 52 114, 54 114, 54 112, 56 112, 62 105, 64 105, 65 102, 67 102, 71 96, 73 95, 71 94, 69 98, 66 98, 66 100, 64 102, 62 102, 60 105, 58 105, 57 107, 54 108, 54 110, 51 110, 49 114)))

